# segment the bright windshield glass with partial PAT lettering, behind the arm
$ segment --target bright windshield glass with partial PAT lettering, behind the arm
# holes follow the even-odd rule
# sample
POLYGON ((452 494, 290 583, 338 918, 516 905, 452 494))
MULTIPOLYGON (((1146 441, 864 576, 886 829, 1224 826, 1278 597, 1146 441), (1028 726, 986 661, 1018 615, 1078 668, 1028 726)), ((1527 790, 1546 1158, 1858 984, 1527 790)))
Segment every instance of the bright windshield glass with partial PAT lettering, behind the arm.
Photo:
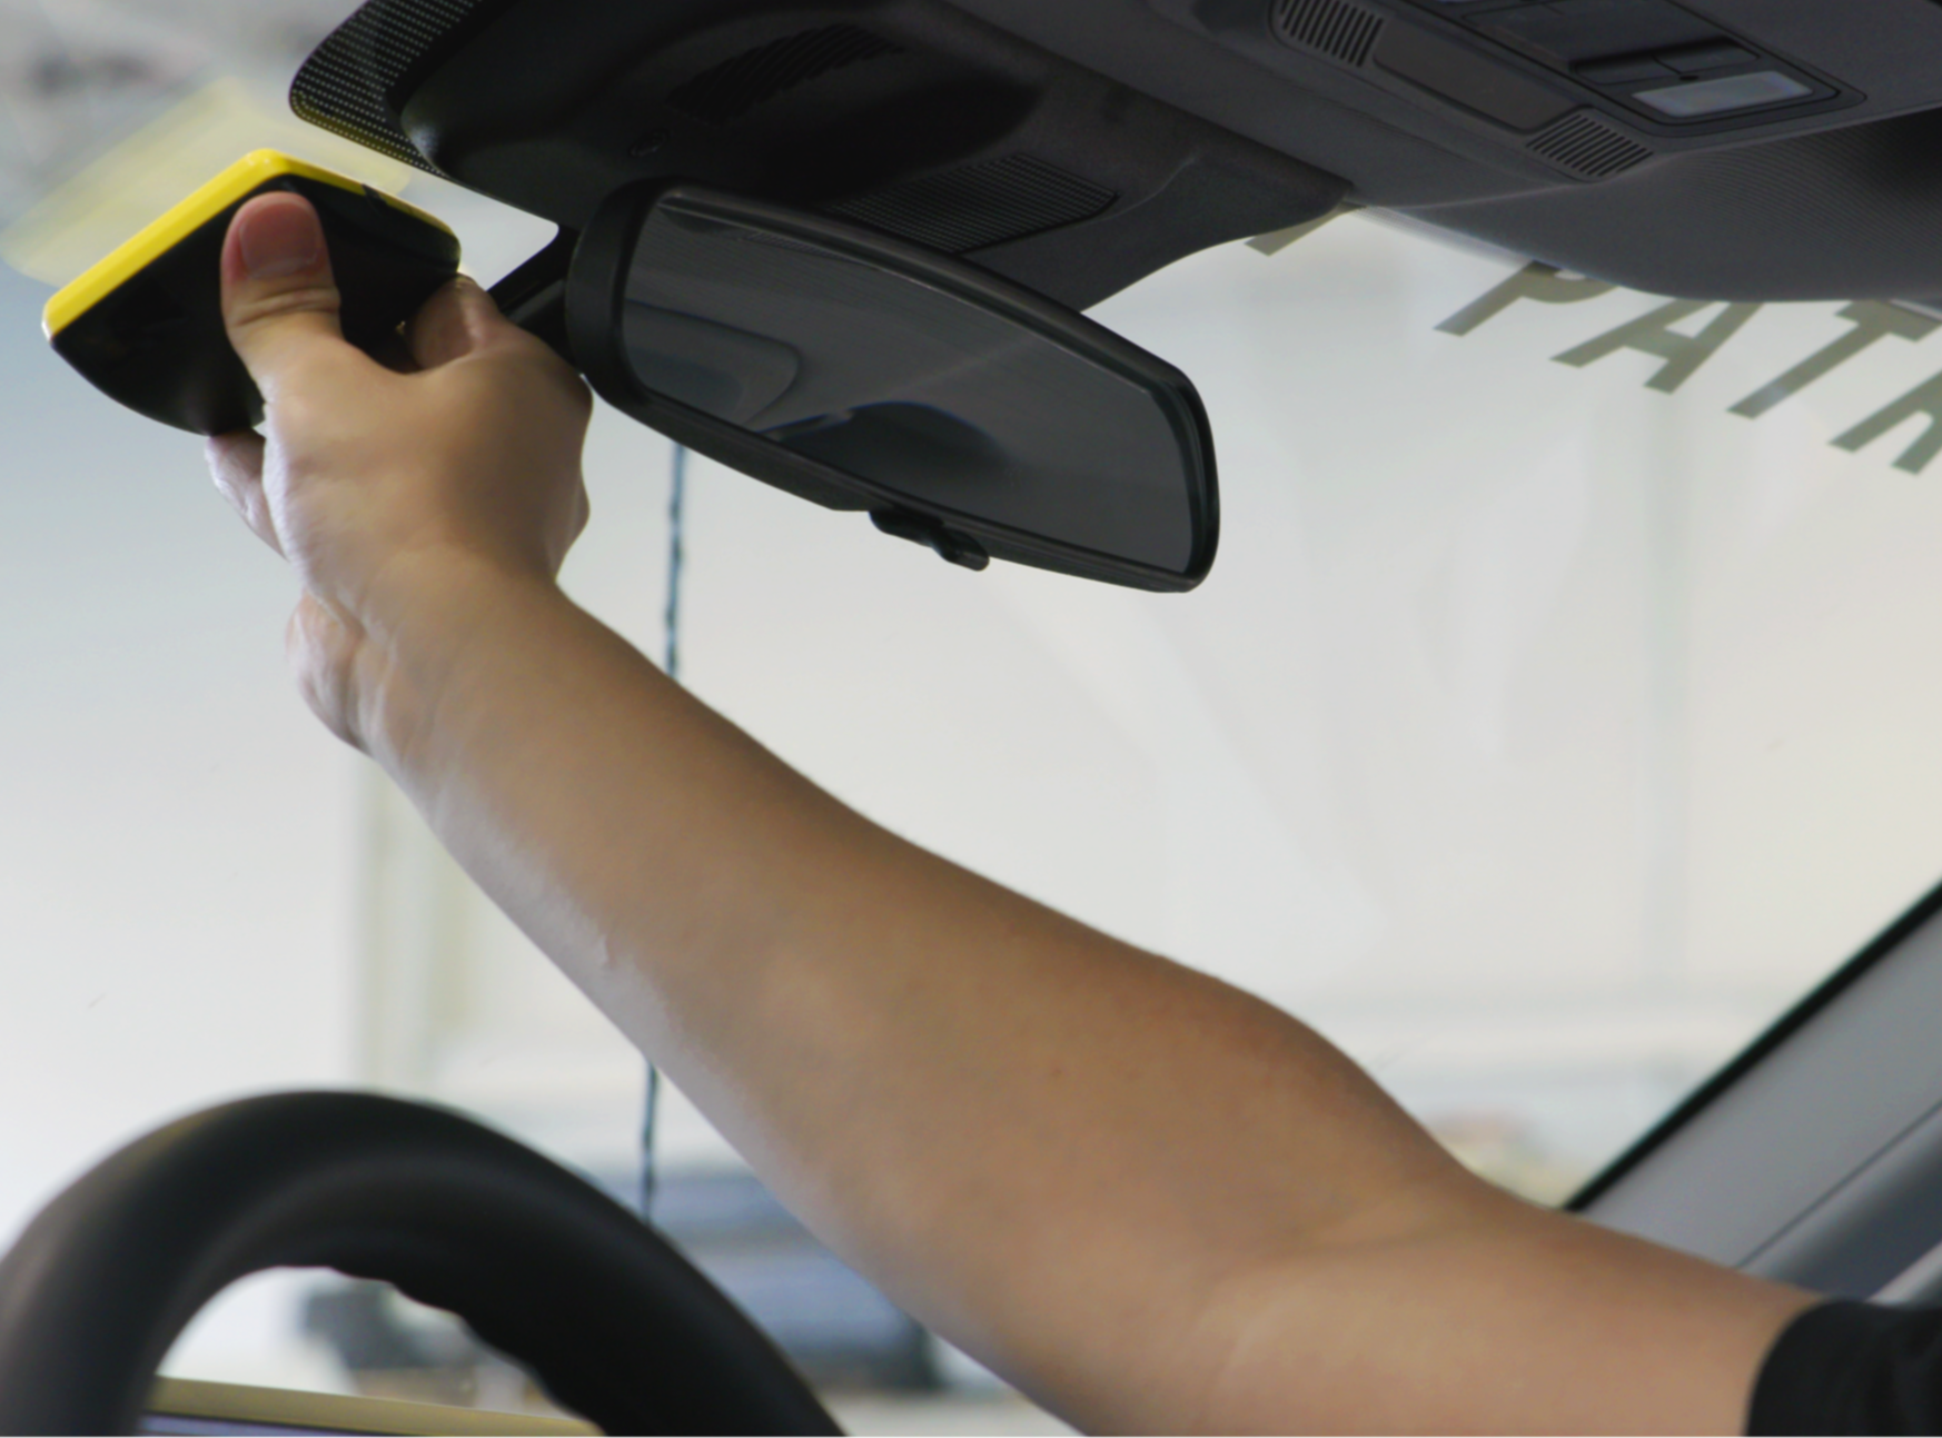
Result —
MULTIPOLYGON (((621 1193, 639 1172, 639 1056, 303 710, 291 580, 200 446, 39 336, 132 173, 89 165, 184 105, 235 113, 177 194, 301 149, 264 97, 346 10, 0 6, 0 245, 39 276, 0 274, 6 1234, 138 1131, 293 1087, 456 1104, 621 1193)), ((546 239, 383 175, 487 281, 546 239)), ((1095 318, 1206 400, 1225 524, 1198 592, 969 574, 695 462, 684 681, 897 833, 1307 1019, 1544 1201, 1942 873, 1934 318, 1668 305, 1373 213, 1095 318)), ((567 571, 656 656, 670 474, 602 413, 567 571)), ((839 1353, 831 1386, 987 1391, 806 1236, 761 1267, 748 1234, 785 1221, 678 1095, 658 1162, 670 1226, 792 1355, 839 1353)), ((400 1314, 266 1281, 171 1370, 526 1401, 400 1314), (359 1368, 371 1333, 392 1347, 359 1368)))

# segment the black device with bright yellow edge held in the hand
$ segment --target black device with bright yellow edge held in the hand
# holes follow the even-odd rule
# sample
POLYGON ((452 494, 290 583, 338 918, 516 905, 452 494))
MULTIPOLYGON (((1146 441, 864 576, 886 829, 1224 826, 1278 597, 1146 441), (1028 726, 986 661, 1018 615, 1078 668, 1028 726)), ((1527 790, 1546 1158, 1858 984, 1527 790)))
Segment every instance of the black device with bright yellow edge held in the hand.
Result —
POLYGON ((262 423, 221 310, 229 221, 272 190, 317 206, 344 295, 344 338, 379 353, 458 274, 458 237, 423 210, 301 159, 258 149, 47 303, 47 338, 95 388, 177 429, 262 423))

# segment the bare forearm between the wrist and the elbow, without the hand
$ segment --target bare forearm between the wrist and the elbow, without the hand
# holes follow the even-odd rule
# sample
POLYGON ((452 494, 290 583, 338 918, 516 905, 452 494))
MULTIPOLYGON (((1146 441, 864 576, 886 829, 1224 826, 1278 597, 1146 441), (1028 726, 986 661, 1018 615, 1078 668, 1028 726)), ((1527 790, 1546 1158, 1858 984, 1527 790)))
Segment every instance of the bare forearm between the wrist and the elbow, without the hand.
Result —
POLYGON ((1027 1382, 1144 1401, 1192 1291, 1449 1182, 1299 1025, 866 823, 555 590, 412 613, 385 646, 429 689, 369 732, 454 854, 821 1232, 1027 1382))

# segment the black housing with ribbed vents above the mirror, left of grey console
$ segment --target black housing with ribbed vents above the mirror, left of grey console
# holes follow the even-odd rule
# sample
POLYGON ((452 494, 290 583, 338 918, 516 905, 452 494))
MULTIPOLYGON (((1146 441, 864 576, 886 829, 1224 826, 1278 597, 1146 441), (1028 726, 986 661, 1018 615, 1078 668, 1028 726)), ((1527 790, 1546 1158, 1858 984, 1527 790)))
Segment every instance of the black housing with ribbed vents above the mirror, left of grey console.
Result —
POLYGON ((1348 188, 944 0, 369 0, 293 101, 567 231, 697 180, 1078 309, 1348 188))

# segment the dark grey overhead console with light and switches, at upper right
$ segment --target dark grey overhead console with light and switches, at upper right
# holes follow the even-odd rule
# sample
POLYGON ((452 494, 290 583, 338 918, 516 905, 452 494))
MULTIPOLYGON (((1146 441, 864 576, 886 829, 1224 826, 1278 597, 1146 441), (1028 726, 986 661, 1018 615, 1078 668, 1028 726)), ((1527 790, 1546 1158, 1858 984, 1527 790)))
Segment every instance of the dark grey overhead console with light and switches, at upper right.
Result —
POLYGON ((1695 299, 1942 295, 1938 0, 954 0, 1342 175, 1695 299))

